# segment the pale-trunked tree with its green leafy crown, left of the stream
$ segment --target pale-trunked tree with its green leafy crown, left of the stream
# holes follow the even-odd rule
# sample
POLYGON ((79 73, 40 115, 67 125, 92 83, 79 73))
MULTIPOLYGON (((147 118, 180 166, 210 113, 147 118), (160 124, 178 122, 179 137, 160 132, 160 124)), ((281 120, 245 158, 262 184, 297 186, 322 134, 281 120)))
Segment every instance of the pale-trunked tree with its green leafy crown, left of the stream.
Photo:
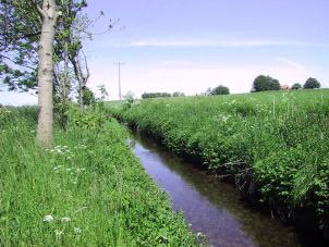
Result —
POLYGON ((82 49, 78 33, 85 28, 76 21, 86 5, 85 0, 0 4, 0 82, 10 90, 38 90, 37 140, 46 147, 52 144, 53 98, 66 102, 69 97, 69 55, 76 58, 82 49))

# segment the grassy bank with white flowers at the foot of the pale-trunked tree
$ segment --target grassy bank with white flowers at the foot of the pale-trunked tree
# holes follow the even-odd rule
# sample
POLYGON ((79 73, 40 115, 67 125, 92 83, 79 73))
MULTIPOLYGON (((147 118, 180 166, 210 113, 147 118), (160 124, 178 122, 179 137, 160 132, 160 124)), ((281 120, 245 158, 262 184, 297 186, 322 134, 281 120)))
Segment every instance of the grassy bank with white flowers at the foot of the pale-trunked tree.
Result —
POLYGON ((195 245, 125 132, 113 120, 89 124, 98 113, 56 128, 45 150, 36 109, 0 109, 0 246, 195 245))

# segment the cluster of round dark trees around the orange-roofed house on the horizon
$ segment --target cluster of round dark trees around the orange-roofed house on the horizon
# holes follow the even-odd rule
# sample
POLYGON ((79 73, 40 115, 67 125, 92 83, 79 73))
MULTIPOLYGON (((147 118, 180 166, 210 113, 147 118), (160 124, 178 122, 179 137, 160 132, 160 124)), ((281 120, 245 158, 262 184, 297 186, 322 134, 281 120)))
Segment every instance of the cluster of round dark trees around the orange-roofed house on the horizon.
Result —
POLYGON ((287 85, 280 85, 279 81, 276 78, 270 77, 269 75, 259 75, 255 78, 253 83, 253 89, 252 92, 254 91, 267 91, 267 90, 280 90, 280 89, 315 89, 315 88, 320 88, 321 85, 320 83, 313 77, 309 77, 304 86, 301 84, 296 83, 294 84, 291 88, 287 85))

